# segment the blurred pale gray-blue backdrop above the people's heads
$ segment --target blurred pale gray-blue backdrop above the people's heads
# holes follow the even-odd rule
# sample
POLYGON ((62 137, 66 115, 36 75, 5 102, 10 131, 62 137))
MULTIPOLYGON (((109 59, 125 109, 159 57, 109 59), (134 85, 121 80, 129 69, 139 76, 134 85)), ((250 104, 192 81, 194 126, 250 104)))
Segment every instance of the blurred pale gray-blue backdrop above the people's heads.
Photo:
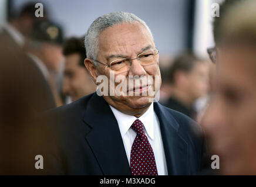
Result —
MULTIPOLYGON (((12 12, 31 0, 1 0, 0 23, 12 12)), ((32 1, 33 2, 33 1, 32 1)), ((163 55, 176 56, 191 48, 206 56, 205 48, 213 46, 211 34, 211 5, 217 0, 42 0, 50 18, 62 25, 65 37, 82 36, 98 16, 113 11, 134 13, 153 32, 156 46, 163 55)))

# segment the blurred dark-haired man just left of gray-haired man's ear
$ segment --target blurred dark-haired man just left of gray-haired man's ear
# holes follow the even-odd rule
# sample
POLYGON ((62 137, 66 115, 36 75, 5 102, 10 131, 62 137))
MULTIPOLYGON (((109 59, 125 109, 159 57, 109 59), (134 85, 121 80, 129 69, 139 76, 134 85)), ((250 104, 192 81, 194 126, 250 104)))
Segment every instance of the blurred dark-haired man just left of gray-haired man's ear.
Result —
POLYGON ((83 61, 86 58, 83 40, 72 37, 63 46, 65 70, 62 91, 76 101, 96 91, 96 85, 90 78, 83 61))

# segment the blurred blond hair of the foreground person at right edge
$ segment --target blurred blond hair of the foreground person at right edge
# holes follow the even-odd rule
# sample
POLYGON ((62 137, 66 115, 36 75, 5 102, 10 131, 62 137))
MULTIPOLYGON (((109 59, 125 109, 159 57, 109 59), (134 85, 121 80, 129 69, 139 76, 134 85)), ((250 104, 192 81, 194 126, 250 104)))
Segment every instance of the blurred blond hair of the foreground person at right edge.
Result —
POLYGON ((220 43, 256 46, 256 1, 243 0, 225 13, 217 33, 220 43))

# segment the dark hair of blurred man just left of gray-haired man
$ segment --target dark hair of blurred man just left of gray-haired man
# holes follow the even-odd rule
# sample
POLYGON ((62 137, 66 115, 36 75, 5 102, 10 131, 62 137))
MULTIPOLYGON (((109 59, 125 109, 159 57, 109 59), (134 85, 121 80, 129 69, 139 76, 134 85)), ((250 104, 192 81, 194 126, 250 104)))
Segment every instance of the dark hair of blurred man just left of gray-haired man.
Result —
POLYGON ((83 63, 86 58, 86 49, 83 45, 83 39, 77 37, 70 37, 67 39, 63 45, 64 56, 69 56, 70 54, 78 53, 80 56, 79 65, 85 67, 83 63))

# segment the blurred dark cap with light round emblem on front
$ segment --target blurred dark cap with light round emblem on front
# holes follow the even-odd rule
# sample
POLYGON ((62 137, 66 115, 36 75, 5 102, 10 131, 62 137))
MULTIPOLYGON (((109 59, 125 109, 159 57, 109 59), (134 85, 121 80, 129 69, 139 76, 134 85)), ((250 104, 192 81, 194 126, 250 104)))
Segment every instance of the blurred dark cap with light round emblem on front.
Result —
POLYGON ((61 45, 63 43, 63 32, 59 25, 50 20, 38 20, 33 24, 31 38, 61 45))

